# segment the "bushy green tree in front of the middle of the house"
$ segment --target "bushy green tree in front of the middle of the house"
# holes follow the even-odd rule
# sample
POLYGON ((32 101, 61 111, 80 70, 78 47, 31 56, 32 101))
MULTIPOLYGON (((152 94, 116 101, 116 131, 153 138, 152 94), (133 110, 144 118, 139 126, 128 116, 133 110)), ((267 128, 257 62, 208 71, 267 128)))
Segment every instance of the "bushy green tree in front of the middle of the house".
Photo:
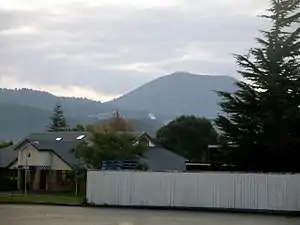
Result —
POLYGON ((133 144, 134 136, 108 127, 90 128, 91 137, 75 149, 75 156, 88 168, 99 169, 103 160, 138 160, 146 146, 133 144))

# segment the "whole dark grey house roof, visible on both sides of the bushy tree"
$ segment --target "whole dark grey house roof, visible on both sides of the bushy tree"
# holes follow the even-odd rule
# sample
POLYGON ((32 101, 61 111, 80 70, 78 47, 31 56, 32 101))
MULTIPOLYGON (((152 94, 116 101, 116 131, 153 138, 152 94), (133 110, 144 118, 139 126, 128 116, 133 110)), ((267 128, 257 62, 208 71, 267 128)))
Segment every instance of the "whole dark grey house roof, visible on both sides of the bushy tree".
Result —
MULTIPOLYGON (((72 153, 72 149, 74 149, 80 143, 81 140, 76 139, 80 135, 85 135, 84 139, 86 139, 90 134, 87 132, 53 132, 29 134, 26 138, 24 138, 16 145, 0 150, 0 167, 9 166, 17 158, 18 152, 14 151, 14 149, 17 149, 25 142, 30 142, 40 151, 53 151, 63 161, 65 161, 70 166, 73 166, 76 163, 76 158, 72 153), (62 139, 56 140, 56 138, 62 139)), ((149 170, 152 171, 184 171, 185 162, 187 161, 187 159, 167 149, 157 146, 148 147, 145 153, 145 158, 142 159, 142 161, 146 163, 149 167, 149 170)))

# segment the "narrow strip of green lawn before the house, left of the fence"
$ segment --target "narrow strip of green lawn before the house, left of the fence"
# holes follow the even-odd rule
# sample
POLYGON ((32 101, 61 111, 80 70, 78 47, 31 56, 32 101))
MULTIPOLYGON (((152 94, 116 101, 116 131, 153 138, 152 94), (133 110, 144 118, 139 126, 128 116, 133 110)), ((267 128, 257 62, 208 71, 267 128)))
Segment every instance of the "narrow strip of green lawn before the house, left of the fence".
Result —
POLYGON ((34 194, 0 194, 0 202, 28 203, 82 203, 82 196, 71 195, 34 195, 34 194))

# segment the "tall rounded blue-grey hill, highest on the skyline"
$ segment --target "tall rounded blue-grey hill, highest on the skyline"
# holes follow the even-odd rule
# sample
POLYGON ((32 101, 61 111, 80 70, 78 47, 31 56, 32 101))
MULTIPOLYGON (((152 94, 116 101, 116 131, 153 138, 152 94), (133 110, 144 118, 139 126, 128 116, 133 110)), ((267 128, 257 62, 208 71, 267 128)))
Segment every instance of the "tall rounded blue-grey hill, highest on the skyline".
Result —
POLYGON ((229 76, 178 72, 153 80, 105 104, 156 115, 195 114, 214 118, 220 111, 220 99, 215 91, 233 92, 235 81, 229 76))

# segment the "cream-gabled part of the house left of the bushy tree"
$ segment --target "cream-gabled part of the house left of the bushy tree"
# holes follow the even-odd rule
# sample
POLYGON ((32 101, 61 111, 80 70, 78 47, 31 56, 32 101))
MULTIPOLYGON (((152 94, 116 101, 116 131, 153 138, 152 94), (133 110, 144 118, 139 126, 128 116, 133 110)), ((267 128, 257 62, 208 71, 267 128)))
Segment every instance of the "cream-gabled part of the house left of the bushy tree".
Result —
POLYGON ((0 151, 0 167, 14 171, 18 189, 69 189, 76 158, 72 153, 87 132, 33 133, 0 151), (25 179, 26 176, 26 179, 25 179))

